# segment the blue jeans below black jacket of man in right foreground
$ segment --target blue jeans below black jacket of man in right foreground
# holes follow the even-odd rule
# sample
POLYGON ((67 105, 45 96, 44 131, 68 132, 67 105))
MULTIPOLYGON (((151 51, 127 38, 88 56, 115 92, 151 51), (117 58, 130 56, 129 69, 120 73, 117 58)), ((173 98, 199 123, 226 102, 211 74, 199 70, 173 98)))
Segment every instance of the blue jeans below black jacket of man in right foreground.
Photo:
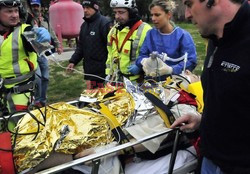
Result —
POLYGON ((204 157, 201 165, 201 174, 224 174, 224 172, 211 160, 204 157))

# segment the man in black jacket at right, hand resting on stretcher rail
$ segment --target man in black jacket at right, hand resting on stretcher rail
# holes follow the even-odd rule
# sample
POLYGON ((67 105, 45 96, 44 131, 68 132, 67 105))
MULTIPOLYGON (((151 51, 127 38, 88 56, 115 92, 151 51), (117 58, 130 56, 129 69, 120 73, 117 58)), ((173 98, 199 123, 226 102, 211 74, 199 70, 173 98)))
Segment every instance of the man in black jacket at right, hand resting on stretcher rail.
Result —
POLYGON ((184 0, 186 17, 209 38, 202 74, 204 111, 172 127, 200 124, 201 173, 250 173, 250 6, 247 0, 184 0), (225 8, 226 7, 226 8, 225 8))

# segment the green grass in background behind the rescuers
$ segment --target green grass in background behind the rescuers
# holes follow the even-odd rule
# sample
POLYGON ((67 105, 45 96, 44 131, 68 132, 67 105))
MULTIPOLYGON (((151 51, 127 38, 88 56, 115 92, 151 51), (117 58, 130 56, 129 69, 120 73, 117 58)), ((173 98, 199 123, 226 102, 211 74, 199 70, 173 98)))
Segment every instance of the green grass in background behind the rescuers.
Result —
MULTIPOLYGON (((198 30, 192 24, 178 23, 177 25, 190 32, 194 39, 198 59, 198 65, 194 73, 200 75, 205 58, 205 40, 200 37, 198 30)), ((61 64, 65 67, 68 62, 61 62, 61 64)), ((82 63, 79 63, 76 68, 82 71, 82 63)), ((74 100, 79 97, 84 88, 86 88, 86 85, 82 74, 67 74, 63 68, 50 62, 50 83, 47 93, 48 103, 74 100)))

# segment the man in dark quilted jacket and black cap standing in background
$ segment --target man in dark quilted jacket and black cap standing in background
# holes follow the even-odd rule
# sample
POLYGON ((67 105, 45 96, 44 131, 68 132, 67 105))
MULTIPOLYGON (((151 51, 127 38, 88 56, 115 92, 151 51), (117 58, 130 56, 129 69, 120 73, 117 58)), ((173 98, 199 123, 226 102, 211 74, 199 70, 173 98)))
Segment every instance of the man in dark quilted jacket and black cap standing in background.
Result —
POLYGON ((107 60, 107 35, 111 21, 99 12, 97 0, 85 0, 82 3, 85 22, 81 26, 79 42, 75 53, 69 60, 68 71, 82 59, 85 80, 88 88, 101 87, 105 78, 105 62, 107 60), (95 76, 92 76, 95 75, 95 76), (99 77, 101 78, 99 78, 99 77))

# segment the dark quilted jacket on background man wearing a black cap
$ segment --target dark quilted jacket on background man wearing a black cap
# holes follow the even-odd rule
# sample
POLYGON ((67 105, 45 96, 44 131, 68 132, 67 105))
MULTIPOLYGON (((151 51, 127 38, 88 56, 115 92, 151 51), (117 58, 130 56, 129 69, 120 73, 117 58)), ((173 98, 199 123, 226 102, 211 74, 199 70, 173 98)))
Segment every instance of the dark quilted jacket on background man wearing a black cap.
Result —
MULTIPOLYGON (((111 21, 102 16, 100 12, 91 18, 84 18, 81 26, 79 42, 75 53, 69 60, 78 64, 83 59, 84 73, 105 77, 105 63, 107 60, 107 35, 111 21)), ((86 80, 100 80, 99 78, 86 76, 86 80)))

